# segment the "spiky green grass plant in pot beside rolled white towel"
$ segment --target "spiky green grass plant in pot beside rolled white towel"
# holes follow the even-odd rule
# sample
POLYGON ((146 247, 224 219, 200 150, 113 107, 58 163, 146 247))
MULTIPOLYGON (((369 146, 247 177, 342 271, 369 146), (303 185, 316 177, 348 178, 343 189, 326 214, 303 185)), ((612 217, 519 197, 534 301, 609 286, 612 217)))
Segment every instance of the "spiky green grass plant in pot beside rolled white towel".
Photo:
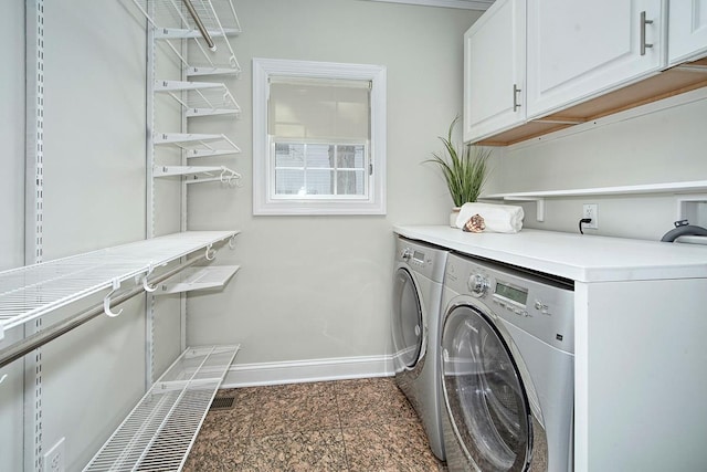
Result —
POLYGON ((454 202, 450 216, 451 225, 455 225, 456 213, 464 203, 478 199, 488 175, 487 161, 490 155, 489 149, 472 145, 463 145, 457 150, 457 146, 452 141, 452 133, 458 120, 458 116, 454 118, 446 137, 439 137, 444 144, 444 153, 432 153, 432 159, 425 161, 437 164, 446 180, 454 202))

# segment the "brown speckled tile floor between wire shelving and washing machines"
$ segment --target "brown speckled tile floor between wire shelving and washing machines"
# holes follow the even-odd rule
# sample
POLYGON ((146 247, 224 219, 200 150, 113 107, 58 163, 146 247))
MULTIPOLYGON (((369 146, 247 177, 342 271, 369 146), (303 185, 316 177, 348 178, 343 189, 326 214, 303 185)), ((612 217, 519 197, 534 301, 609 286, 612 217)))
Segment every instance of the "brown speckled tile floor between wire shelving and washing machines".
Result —
POLYGON ((391 378, 219 390, 187 472, 437 472, 414 410, 391 378))

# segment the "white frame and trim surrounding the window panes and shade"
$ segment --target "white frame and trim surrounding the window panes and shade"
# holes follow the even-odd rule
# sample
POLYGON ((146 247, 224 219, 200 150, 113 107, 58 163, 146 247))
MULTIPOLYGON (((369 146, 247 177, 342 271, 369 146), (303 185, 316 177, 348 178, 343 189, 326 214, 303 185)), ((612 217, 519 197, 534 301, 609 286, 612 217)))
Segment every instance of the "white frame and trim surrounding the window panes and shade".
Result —
POLYGON ((253 59, 253 214, 386 214, 386 67, 368 64, 253 59), (274 156, 267 135, 271 76, 371 82, 368 198, 274 198, 274 156))

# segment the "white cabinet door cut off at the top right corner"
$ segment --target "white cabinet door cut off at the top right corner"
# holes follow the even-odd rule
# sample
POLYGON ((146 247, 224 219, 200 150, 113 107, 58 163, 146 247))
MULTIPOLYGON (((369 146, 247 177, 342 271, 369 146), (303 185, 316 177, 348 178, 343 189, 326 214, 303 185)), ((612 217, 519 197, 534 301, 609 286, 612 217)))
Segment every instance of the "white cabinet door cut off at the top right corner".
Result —
POLYGON ((707 55, 707 0, 673 0, 668 19, 669 65, 707 55))

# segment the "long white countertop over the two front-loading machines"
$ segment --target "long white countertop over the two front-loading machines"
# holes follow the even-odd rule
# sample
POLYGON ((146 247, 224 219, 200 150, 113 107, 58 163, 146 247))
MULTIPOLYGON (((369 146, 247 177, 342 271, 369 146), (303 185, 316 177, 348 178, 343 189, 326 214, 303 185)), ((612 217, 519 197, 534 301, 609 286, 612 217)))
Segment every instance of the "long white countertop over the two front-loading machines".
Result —
POLYGON ((707 279, 707 245, 531 229, 503 234, 468 233, 443 225, 397 225, 393 231, 465 254, 579 282, 707 279))

